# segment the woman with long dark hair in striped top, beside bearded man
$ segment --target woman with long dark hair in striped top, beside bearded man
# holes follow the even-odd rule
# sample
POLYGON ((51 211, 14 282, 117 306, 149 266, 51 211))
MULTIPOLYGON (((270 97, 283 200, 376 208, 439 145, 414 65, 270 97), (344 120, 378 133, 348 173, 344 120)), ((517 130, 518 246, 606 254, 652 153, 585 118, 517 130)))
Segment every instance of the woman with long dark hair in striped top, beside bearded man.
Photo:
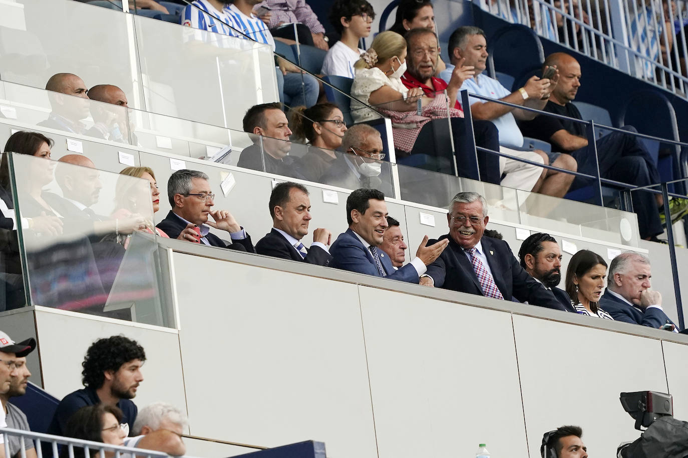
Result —
POLYGON ((594 251, 581 250, 571 257, 566 269, 566 293, 580 314, 613 320, 597 303, 604 289, 607 263, 594 251))

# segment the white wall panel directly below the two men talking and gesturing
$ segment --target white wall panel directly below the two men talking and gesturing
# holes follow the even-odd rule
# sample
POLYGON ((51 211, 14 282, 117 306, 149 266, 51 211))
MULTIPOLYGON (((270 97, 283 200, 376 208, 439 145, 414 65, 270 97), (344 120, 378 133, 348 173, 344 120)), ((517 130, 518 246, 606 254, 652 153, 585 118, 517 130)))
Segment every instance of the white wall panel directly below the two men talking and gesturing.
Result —
POLYGON ((359 289, 380 458, 526 456, 510 314, 359 289))

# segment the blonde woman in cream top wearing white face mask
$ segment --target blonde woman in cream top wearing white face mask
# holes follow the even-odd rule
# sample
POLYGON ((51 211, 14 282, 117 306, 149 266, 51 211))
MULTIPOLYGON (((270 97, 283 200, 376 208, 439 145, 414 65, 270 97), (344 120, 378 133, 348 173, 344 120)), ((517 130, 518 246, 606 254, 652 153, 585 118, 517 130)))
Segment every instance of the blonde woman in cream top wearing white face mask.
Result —
MULTIPOLYGON (((382 32, 354 65, 356 76, 351 95, 375 108, 391 111, 415 111, 422 89, 407 89, 400 78, 406 71, 406 41, 395 32, 382 32)), ((358 102, 351 103, 354 122, 379 117, 358 102)))

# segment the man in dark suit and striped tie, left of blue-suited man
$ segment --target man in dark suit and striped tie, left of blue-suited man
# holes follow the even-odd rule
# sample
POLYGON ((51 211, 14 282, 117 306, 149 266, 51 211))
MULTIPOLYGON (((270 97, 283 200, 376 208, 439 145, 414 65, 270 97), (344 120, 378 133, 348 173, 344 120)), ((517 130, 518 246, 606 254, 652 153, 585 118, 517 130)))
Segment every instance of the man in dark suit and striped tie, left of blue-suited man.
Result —
POLYGON ((301 243, 301 239, 308 235, 311 220, 310 198, 304 185, 291 181, 275 185, 269 207, 272 231, 256 244, 256 253, 321 266, 330 264, 330 231, 320 227, 315 229, 310 249, 301 243))

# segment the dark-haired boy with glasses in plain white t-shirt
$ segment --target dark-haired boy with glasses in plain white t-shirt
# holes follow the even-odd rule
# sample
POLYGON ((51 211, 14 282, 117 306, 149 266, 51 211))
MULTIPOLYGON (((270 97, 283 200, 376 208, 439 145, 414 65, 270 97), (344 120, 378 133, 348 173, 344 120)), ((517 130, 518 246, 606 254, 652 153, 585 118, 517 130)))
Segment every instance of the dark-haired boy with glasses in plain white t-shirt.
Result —
POLYGON ((375 12, 366 0, 335 0, 330 9, 330 23, 341 35, 323 61, 323 75, 354 78, 354 64, 365 49, 358 47, 361 38, 370 35, 375 12))

